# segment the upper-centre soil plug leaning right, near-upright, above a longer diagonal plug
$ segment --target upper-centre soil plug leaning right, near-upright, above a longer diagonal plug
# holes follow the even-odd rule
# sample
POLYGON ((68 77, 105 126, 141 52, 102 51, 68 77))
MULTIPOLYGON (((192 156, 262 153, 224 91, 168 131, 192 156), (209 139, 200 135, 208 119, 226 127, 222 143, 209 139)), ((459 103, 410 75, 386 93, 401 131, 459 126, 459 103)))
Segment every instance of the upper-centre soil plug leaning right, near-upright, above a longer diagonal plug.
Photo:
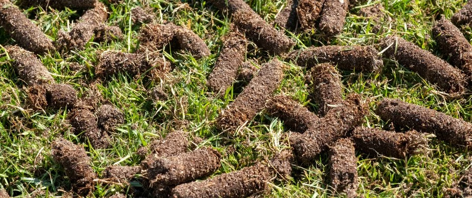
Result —
POLYGON ((233 85, 239 66, 246 54, 247 41, 239 32, 230 32, 225 36, 212 73, 208 76, 207 86, 215 93, 225 93, 233 85))

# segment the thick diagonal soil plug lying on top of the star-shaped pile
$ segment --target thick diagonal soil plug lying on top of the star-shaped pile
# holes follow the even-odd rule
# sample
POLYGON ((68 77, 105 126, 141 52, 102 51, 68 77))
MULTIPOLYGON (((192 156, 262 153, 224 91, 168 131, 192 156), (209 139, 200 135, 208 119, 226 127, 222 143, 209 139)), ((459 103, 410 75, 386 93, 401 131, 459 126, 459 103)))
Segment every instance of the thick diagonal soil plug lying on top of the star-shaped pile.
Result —
POLYGON ((363 122, 367 105, 359 95, 350 95, 336 108, 328 111, 304 134, 290 136, 295 158, 310 163, 321 151, 363 122))

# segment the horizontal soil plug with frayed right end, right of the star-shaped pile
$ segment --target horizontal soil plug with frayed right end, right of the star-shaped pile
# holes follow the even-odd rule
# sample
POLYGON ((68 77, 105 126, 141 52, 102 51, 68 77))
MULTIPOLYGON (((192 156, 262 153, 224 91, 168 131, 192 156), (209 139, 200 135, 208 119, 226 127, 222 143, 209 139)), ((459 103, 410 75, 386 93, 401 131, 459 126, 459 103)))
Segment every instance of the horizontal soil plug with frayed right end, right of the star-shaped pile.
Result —
POLYGON ((412 130, 395 133, 381 129, 357 127, 351 133, 356 148, 372 155, 385 155, 403 159, 405 156, 420 153, 426 148, 427 139, 412 130))

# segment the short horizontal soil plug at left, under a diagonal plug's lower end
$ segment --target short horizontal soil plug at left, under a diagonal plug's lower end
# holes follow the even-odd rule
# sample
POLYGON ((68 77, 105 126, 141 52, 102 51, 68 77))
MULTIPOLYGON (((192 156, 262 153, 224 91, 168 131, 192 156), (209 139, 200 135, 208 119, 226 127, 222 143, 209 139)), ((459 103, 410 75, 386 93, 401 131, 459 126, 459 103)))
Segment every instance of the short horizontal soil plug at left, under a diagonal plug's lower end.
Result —
POLYGON ((31 104, 37 109, 73 107, 77 92, 66 84, 34 85, 27 90, 31 104))

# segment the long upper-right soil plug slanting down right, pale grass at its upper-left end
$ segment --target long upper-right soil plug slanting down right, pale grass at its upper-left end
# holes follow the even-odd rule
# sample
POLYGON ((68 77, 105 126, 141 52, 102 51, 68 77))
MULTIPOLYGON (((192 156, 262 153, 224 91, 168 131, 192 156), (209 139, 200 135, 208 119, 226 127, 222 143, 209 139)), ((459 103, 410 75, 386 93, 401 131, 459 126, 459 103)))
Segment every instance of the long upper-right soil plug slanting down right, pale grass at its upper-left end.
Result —
POLYGON ((382 39, 381 48, 388 48, 384 51, 385 57, 395 59, 453 97, 464 94, 465 76, 461 70, 431 52, 396 36, 382 39))

